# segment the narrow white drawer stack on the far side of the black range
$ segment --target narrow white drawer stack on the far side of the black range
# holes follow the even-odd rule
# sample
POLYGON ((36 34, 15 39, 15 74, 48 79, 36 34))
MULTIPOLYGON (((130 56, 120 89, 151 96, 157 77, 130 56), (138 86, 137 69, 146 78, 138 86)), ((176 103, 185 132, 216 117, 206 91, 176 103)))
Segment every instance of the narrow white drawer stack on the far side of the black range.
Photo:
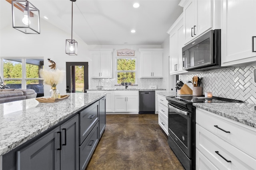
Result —
POLYGON ((168 102, 164 96, 158 95, 158 124, 168 135, 168 102))

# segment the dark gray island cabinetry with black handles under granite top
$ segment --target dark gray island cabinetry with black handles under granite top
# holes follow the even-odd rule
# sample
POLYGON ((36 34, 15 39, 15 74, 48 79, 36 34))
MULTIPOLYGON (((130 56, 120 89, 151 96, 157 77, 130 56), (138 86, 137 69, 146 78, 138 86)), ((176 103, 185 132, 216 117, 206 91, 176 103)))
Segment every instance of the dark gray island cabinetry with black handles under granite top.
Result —
MULTIPOLYGON (((78 95, 72 94, 74 98, 78 95)), ((2 154, 0 170, 84 170, 106 127, 106 97, 96 96, 86 107, 79 107, 56 125, 2 154)), ((67 106, 72 107, 72 100, 66 101, 67 106)))

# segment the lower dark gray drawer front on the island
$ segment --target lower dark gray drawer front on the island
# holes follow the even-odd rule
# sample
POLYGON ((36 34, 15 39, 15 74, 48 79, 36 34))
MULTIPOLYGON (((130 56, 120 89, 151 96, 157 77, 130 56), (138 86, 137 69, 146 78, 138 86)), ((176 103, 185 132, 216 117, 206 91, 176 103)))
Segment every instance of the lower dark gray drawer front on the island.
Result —
POLYGON ((84 170, 99 142, 99 123, 95 125, 84 143, 79 147, 80 170, 84 170))

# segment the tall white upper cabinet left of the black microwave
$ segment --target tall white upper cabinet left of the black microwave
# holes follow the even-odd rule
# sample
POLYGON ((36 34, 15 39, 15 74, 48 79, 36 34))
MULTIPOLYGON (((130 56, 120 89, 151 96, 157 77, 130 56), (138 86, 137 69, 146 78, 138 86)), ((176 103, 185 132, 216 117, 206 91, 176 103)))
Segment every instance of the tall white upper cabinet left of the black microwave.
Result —
POLYGON ((170 34, 170 74, 181 74, 188 71, 182 70, 182 47, 184 45, 183 14, 174 22, 167 32, 170 34))

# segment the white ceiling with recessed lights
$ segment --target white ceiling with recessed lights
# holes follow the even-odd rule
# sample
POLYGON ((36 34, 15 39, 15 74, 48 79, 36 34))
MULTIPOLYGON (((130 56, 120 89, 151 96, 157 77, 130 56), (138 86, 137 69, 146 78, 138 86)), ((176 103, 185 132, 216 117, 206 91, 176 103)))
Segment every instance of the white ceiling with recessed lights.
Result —
MULTIPOLYGON (((1 0, 1 15, 11 4, 1 0), (3 4, 4 3, 4 4, 3 4), (6 5, 8 4, 8 5, 6 5)), ((70 33, 70 0, 29 0, 40 10, 41 20, 70 33)), ((73 2, 73 35, 88 45, 161 45, 166 31, 182 13, 180 0, 77 0, 73 2), (139 8, 133 8, 138 2, 139 8), (135 33, 131 30, 135 29, 135 33)), ((11 12, 10 12, 11 13, 11 12)), ((1 18, 2 19, 2 18, 1 18)), ((2 24, 2 20, 1 20, 2 24)), ((6 25, 1 25, 4 27, 6 25)), ((41 30, 42 31, 42 30, 41 30)))

